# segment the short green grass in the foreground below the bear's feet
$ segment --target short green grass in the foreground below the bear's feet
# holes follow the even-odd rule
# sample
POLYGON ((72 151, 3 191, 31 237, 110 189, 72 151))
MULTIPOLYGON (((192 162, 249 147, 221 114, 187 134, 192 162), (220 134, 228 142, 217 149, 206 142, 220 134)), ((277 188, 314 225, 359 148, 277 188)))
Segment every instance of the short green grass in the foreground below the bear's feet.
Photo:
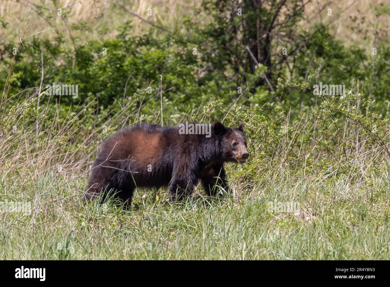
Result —
POLYGON ((353 183, 269 173, 252 190, 233 180, 229 200, 207 201, 198 188, 175 205, 166 190, 139 190, 131 210, 82 205, 86 178, 51 191, 69 178, 2 178, 1 201, 37 198, 31 215, 2 214, 0 259, 390 259, 389 175, 353 183), (268 212, 275 200, 300 211, 268 212))

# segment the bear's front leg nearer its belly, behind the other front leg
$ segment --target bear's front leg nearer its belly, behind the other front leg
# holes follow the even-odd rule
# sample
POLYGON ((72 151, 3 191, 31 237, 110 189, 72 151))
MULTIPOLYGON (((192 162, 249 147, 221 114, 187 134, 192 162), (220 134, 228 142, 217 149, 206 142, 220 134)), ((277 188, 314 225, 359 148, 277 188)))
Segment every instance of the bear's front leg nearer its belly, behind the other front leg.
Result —
POLYGON ((169 185, 171 202, 184 200, 192 193, 198 183, 198 176, 195 172, 179 172, 172 178, 169 185))

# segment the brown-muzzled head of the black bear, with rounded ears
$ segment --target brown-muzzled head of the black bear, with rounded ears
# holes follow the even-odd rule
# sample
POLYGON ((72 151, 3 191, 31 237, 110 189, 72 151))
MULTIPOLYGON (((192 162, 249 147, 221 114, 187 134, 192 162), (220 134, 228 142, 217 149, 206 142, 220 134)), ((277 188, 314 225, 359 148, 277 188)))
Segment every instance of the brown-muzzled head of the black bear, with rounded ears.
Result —
POLYGON ((244 123, 238 128, 228 128, 217 121, 214 124, 214 134, 221 139, 221 155, 224 161, 244 163, 249 157, 244 137, 244 123))

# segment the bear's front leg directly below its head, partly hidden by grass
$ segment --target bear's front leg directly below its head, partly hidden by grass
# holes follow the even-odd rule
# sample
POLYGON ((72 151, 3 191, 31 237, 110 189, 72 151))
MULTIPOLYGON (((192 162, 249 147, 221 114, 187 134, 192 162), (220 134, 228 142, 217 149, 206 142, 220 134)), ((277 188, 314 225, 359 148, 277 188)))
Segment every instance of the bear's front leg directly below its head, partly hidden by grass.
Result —
POLYGON ((222 164, 217 164, 205 170, 200 180, 207 196, 225 196, 229 193, 226 173, 222 164))

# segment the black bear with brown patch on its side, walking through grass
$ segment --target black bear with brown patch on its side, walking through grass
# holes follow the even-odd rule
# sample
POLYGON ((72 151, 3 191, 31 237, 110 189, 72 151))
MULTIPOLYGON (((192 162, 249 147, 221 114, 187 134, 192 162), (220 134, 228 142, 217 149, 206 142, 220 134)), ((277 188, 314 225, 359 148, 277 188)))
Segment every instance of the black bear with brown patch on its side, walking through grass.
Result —
POLYGON ((168 186, 171 201, 183 200, 200 180, 208 196, 229 188, 224 162, 243 163, 249 156, 238 128, 222 123, 177 127, 133 125, 108 138, 92 165, 85 198, 109 191, 128 206, 137 187, 168 186))

